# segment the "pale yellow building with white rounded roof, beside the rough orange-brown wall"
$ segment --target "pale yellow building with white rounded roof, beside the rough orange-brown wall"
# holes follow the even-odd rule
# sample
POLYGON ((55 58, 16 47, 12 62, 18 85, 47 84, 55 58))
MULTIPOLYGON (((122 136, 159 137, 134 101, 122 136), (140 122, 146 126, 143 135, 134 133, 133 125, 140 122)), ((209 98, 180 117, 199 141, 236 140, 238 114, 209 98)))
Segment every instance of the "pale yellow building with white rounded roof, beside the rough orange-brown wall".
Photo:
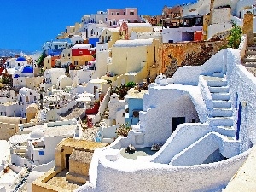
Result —
POLYGON ((112 47, 112 62, 107 66, 108 73, 125 75, 125 83, 155 78, 158 47, 159 41, 154 38, 117 41, 112 47))

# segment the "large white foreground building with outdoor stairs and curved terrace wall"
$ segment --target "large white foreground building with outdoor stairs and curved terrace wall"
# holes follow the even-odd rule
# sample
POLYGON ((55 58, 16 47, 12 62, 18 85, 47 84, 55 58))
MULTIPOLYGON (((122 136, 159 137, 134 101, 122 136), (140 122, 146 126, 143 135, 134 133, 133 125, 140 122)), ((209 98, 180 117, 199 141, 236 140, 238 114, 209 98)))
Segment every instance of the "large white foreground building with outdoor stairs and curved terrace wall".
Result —
POLYGON ((223 189, 256 143, 256 78, 240 54, 223 49, 202 66, 180 67, 172 79, 150 84, 136 129, 95 152, 90 183, 76 192, 223 189), (135 160, 121 152, 155 143, 163 144, 158 152, 135 160))

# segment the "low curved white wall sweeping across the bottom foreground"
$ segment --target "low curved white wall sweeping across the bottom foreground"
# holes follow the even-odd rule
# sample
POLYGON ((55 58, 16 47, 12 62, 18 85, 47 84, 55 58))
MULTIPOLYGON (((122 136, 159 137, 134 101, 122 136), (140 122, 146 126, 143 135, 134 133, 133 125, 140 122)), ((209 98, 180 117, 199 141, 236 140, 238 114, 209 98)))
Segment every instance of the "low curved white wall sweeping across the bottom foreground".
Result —
POLYGON ((244 163, 248 154, 247 151, 229 160, 200 166, 169 166, 147 162, 142 164, 137 160, 126 160, 127 166, 124 166, 123 161, 108 161, 102 156, 97 166, 97 185, 85 184, 75 191, 125 192, 137 189, 191 192, 221 189, 244 163))

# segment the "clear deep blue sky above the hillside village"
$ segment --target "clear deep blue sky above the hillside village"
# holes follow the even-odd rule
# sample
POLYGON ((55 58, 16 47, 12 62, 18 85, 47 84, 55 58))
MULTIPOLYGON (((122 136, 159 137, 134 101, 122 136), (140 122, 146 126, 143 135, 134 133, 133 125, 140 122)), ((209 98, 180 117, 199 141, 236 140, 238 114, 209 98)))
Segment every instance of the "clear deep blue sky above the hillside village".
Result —
POLYGON ((3 0, 0 4, 0 49, 41 50, 83 15, 111 8, 138 8, 139 15, 160 15, 164 5, 190 0, 3 0))

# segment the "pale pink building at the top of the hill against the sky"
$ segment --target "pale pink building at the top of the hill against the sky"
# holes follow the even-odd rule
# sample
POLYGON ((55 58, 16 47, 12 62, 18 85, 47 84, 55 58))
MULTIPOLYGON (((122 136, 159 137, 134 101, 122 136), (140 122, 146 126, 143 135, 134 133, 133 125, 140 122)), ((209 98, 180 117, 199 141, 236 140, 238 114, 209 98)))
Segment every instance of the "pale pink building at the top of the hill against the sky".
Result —
POLYGON ((107 20, 108 27, 118 27, 122 21, 129 23, 141 22, 140 16, 137 15, 137 8, 108 9, 107 20))

